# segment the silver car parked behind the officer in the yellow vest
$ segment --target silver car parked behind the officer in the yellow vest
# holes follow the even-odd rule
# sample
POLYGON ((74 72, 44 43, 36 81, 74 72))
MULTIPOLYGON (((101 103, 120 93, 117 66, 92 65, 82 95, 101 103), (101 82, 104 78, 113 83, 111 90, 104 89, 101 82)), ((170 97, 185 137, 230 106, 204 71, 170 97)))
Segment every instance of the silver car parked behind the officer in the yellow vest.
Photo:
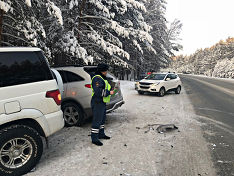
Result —
MULTIPOLYGON (((91 109, 91 77, 95 74, 96 66, 66 66, 55 68, 63 80, 62 110, 66 126, 81 126, 86 118, 92 116, 91 109)), ((117 93, 111 96, 107 103, 107 112, 111 112, 124 104, 120 89, 120 81, 113 75, 107 75, 108 82, 117 93)))

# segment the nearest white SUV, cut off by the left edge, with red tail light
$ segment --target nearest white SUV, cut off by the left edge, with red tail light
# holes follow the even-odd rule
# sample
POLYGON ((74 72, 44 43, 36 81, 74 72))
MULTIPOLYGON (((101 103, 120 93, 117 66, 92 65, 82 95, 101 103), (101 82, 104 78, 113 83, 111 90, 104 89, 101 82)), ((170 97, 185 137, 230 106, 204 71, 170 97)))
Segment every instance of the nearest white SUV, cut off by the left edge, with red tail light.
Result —
POLYGON ((64 126, 61 95, 39 48, 0 48, 0 175, 23 175, 64 126))

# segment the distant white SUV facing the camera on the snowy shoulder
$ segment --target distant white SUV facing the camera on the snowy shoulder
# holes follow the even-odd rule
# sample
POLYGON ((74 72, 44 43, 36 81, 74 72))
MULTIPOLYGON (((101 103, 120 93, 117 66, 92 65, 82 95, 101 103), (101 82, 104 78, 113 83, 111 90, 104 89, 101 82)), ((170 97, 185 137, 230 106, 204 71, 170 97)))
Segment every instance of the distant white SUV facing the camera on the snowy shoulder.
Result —
POLYGON ((139 94, 144 94, 145 92, 158 93, 161 97, 170 90, 180 94, 181 81, 175 73, 152 73, 136 83, 136 90, 139 94))

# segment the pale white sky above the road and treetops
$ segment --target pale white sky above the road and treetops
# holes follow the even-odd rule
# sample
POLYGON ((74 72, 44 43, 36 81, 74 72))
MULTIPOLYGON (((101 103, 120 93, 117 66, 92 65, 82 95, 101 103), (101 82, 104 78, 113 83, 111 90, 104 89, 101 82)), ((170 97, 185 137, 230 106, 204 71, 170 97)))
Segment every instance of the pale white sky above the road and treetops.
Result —
POLYGON ((183 23, 180 43, 189 55, 234 37, 234 0, 166 0, 166 17, 183 23))

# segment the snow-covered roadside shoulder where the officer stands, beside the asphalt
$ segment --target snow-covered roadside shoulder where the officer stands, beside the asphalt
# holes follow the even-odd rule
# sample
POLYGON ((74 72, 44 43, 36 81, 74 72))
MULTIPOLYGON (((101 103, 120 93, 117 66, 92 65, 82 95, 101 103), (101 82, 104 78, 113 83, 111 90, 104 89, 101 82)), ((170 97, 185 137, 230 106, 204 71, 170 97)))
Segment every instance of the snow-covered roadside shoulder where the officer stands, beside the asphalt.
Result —
POLYGON ((126 104, 108 115, 104 146, 91 144, 90 123, 65 128, 50 138, 50 148, 28 176, 214 176, 201 124, 182 91, 165 97, 138 95, 134 83, 121 82, 126 104), (179 131, 159 134, 157 124, 179 131), (150 125, 150 127, 149 127, 150 125))

